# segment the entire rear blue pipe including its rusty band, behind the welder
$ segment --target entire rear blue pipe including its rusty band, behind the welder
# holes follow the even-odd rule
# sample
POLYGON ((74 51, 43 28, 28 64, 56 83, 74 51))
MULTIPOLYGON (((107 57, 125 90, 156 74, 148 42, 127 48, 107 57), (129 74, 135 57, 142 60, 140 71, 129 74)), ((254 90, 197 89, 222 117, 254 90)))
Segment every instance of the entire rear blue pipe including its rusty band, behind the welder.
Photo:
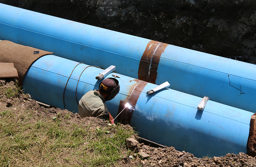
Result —
POLYGON ((4 4, 0 39, 104 69, 115 65, 120 74, 158 85, 168 81, 174 90, 256 112, 253 64, 4 4))

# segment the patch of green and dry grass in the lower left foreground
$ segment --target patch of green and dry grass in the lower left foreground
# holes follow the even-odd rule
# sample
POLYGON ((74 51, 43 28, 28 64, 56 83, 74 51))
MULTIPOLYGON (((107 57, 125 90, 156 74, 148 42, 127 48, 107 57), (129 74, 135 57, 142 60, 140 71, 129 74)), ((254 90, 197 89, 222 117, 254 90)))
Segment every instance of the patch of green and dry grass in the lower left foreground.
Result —
POLYGON ((94 124, 68 123, 69 115, 39 118, 0 111, 0 166, 111 166, 134 135, 120 125, 96 129, 94 124), (22 118, 22 119, 20 119, 22 118))

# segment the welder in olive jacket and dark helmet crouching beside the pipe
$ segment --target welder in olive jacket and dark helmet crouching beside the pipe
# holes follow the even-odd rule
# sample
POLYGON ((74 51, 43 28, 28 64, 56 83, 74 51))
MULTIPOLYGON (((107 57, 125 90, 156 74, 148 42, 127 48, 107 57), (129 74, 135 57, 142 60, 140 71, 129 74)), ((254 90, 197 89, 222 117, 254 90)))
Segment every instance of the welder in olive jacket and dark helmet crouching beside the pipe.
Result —
POLYGON ((106 101, 114 99, 120 90, 119 82, 115 78, 106 78, 99 90, 88 91, 79 101, 78 114, 84 117, 97 117, 102 120, 113 119, 109 114, 106 101))

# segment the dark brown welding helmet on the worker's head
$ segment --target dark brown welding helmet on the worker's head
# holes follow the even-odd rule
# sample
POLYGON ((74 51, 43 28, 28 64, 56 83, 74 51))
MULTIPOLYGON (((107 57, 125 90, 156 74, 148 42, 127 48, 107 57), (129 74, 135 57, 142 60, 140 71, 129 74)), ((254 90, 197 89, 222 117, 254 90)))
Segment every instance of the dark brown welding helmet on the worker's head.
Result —
POLYGON ((99 91, 109 95, 106 101, 114 99, 120 90, 119 82, 115 78, 106 78, 99 85, 99 91))

